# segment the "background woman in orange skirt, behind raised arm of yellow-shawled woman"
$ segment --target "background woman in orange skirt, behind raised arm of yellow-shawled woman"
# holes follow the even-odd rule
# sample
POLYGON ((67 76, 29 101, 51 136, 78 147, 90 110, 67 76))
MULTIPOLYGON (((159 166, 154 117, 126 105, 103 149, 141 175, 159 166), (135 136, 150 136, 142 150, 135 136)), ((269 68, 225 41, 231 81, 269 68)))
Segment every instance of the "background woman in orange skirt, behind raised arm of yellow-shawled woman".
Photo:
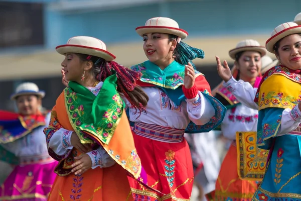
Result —
MULTIPOLYGON (((235 60, 233 72, 235 78, 257 87, 261 80, 261 57, 265 54, 266 49, 257 41, 251 39, 240 41, 236 48, 229 51, 230 57, 235 60)), ((221 65, 218 57, 216 60, 217 65, 221 65)), ((239 178, 236 162, 239 154, 236 149, 236 132, 256 131, 258 111, 241 105, 231 90, 226 87, 218 90, 215 97, 228 109, 221 124, 221 131, 224 137, 232 141, 232 144, 222 162, 211 198, 212 200, 250 200, 256 191, 256 182, 239 178)))

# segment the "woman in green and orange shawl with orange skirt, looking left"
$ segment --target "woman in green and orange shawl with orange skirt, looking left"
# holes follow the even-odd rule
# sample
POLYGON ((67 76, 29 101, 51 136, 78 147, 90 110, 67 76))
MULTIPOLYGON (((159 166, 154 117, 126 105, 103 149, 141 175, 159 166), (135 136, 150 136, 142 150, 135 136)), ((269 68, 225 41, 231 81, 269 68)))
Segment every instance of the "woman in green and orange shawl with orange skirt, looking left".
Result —
POLYGON ((127 175, 140 185, 147 178, 120 94, 144 113, 148 97, 135 85, 140 73, 114 62, 96 38, 73 37, 56 50, 69 82, 44 130, 49 153, 60 161, 49 200, 133 200, 127 175))

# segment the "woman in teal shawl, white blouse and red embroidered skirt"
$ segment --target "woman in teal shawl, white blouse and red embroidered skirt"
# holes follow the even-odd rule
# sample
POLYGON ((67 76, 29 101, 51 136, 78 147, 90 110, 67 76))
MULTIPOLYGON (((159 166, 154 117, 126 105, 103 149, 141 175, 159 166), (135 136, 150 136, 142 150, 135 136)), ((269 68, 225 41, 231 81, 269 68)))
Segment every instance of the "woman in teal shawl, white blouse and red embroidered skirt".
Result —
POLYGON ((152 18, 136 32, 143 38, 147 61, 132 66, 142 73, 139 82, 149 96, 146 113, 129 108, 137 152, 147 174, 145 192, 132 182, 137 200, 190 200, 193 167, 184 133, 209 132, 224 118, 225 108, 209 95, 210 86, 192 60, 204 52, 182 40, 188 33, 170 18, 152 18))

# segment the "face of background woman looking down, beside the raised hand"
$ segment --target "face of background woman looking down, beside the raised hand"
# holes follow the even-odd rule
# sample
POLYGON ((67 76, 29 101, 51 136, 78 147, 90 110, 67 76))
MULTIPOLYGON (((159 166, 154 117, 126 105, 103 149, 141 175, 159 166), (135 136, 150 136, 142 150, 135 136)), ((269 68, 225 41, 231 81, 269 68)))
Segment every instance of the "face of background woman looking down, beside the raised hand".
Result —
POLYGON ((261 69, 261 55, 256 51, 245 51, 235 65, 241 77, 257 77, 261 69))

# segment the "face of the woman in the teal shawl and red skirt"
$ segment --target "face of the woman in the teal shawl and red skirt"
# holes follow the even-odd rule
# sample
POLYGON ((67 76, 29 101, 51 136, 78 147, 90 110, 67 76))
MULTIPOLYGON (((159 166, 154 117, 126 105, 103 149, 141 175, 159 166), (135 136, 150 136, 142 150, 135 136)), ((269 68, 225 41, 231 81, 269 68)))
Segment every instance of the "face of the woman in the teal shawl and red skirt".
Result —
POLYGON ((143 50, 150 62, 161 65, 173 60, 173 51, 176 47, 176 40, 171 42, 168 34, 144 34, 143 41, 143 50))

